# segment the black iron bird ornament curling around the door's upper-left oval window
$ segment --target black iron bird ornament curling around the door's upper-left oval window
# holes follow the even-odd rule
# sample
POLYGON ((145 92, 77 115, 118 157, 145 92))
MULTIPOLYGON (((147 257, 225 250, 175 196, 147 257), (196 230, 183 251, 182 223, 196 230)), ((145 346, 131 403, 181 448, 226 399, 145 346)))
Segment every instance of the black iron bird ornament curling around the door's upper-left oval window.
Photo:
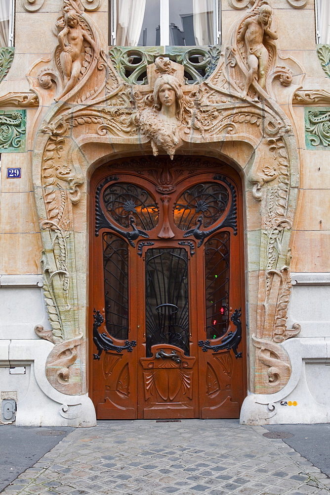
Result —
POLYGON ((120 229, 116 225, 113 225, 112 223, 109 222, 109 220, 106 218, 105 214, 103 213, 102 207, 101 207, 101 201, 100 201, 100 195, 101 195, 101 190, 102 188, 108 184, 109 182, 112 181, 118 181, 118 177, 116 176, 109 176, 106 177, 106 179, 96 188, 96 194, 95 194, 95 236, 98 237, 100 229, 106 228, 106 229, 111 229, 117 234, 120 234, 124 238, 127 239, 129 244, 132 247, 135 247, 134 241, 139 237, 146 237, 149 238, 149 235, 144 232, 143 230, 139 230, 136 228, 135 224, 135 219, 132 215, 129 215, 129 225, 132 228, 130 232, 127 232, 126 230, 120 229))

